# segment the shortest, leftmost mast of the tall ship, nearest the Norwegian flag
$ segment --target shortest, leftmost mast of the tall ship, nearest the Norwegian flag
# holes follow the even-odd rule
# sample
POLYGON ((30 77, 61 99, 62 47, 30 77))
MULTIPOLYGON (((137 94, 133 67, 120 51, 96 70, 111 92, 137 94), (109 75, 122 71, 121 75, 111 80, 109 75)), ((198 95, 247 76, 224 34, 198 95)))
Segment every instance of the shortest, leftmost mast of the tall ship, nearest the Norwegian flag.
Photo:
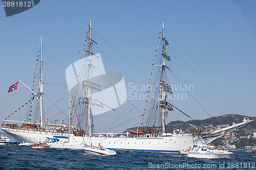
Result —
POLYGON ((40 36, 40 51, 41 51, 41 77, 40 77, 40 81, 39 81, 39 89, 38 89, 38 102, 39 102, 39 116, 40 116, 40 126, 41 128, 43 127, 43 121, 42 121, 42 37, 40 36))

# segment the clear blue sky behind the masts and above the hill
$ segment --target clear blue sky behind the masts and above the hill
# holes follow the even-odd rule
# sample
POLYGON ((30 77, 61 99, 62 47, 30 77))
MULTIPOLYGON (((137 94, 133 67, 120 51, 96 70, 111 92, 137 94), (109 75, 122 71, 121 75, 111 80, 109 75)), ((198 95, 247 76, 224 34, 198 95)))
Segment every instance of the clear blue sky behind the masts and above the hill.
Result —
MULTIPOLYGON (((40 35, 45 114, 52 119, 66 118, 53 103, 63 99, 57 106, 61 110, 69 106, 65 70, 81 57, 78 51, 83 48, 90 20, 105 70, 124 76, 130 101, 117 108, 125 116, 112 127, 105 125, 118 113, 96 116, 95 131, 122 132, 140 125, 145 101, 136 96, 145 95, 163 21, 167 53, 172 58, 168 65, 179 75, 177 80, 168 72, 176 95, 170 102, 194 119, 234 113, 256 116, 255 6, 255 1, 45 0, 9 17, 0 7, 0 120, 29 99, 30 91, 22 84, 16 91, 7 91, 18 80, 31 85, 40 35), (184 91, 181 84, 191 89, 184 91), (133 110, 126 113, 126 109, 133 110), (118 126, 129 117, 137 118, 118 126)), ((10 119, 23 120, 24 111, 10 119)), ((189 118, 175 110, 166 122, 172 120, 189 118)))

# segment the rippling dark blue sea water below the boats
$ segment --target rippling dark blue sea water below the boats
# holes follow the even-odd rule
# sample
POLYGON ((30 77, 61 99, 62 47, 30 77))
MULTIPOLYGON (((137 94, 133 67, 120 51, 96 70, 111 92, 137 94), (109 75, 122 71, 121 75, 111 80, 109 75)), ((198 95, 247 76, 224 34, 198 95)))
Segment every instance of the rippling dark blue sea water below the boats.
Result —
POLYGON ((233 151, 231 158, 187 158, 178 153, 116 151, 114 156, 82 150, 32 149, 0 145, 0 169, 256 169, 256 153, 233 151))

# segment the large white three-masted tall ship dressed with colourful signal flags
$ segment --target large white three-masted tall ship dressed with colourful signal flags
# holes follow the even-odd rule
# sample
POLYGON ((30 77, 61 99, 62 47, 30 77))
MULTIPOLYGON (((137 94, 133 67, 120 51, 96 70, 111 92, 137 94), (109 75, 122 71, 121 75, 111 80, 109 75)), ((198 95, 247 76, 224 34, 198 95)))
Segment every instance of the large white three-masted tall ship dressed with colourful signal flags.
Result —
MULTIPOLYGON (((108 100, 99 98, 99 95, 125 95, 126 91, 117 91, 116 86, 109 88, 106 92, 104 83, 107 79, 113 79, 120 76, 118 74, 106 75, 104 70, 97 69, 101 67, 101 56, 93 52, 93 45, 97 42, 92 38, 91 21, 86 35, 86 43, 83 44, 80 60, 73 63, 66 70, 67 84, 69 88, 69 116, 67 123, 50 121, 44 117, 42 109, 42 40, 38 47, 38 72, 35 74, 38 87, 32 91, 32 98, 25 104, 28 105, 27 118, 23 121, 3 120, 2 130, 11 135, 17 141, 28 141, 38 143, 39 141, 50 141, 50 148, 71 148, 82 149, 84 145, 97 145, 100 143, 104 148, 113 150, 131 150, 131 151, 155 151, 155 152, 179 152, 193 147, 195 144, 207 144, 221 137, 226 132, 237 129, 252 120, 244 118, 242 123, 235 124, 218 129, 209 129, 191 125, 190 130, 174 131, 166 133, 165 119, 174 110, 178 109, 172 103, 167 101, 167 95, 172 95, 172 87, 167 79, 166 66, 170 62, 170 56, 166 53, 166 46, 169 45, 165 37, 164 23, 160 32, 159 44, 157 49, 154 68, 152 69, 152 78, 149 80, 148 91, 146 95, 146 104, 143 113, 138 113, 143 122, 140 127, 130 130, 126 133, 95 133, 93 116, 95 110, 115 110, 108 104, 108 100), (108 78, 107 78, 108 77, 108 78), (104 90, 102 90, 104 89, 104 90), (100 100, 102 99, 102 100, 100 100), (34 104, 34 105, 32 105, 34 104)), ((101 67, 102 68, 102 67, 101 67)), ((23 83, 22 81, 20 81, 23 83)), ((19 82, 15 83, 9 90, 15 90, 19 82)), ((123 85, 123 77, 117 81, 123 85)), ((119 101, 123 103, 124 101, 119 101)), ((25 107, 25 106, 22 106, 25 107)), ((20 108, 19 108, 20 109, 20 108)), ((16 112, 16 111, 15 111, 16 112)), ((15 113, 14 112, 14 113, 15 113)), ((182 111, 181 111, 182 112, 182 111)), ((12 113, 12 114, 14 114, 12 113)), ((98 112, 99 113, 99 112, 98 112)), ((182 112, 185 114, 184 112, 182 112)), ((187 114, 185 114, 188 116, 187 114)), ((10 116, 8 116, 10 117, 10 116)), ((95 125, 97 126, 97 125, 95 125)))

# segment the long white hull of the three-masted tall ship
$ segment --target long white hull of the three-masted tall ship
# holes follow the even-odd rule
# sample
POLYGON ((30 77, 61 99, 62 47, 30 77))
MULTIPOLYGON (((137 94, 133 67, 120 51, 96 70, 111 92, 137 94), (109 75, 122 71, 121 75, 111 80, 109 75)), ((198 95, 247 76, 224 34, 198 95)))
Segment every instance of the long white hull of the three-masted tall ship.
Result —
MULTIPOLYGON (((3 128, 2 130, 10 134, 15 140, 26 140, 32 143, 45 141, 54 136, 68 137, 68 133, 39 132, 30 130, 16 130, 3 128)), ((172 134, 172 136, 161 137, 81 137, 70 134, 69 139, 58 138, 59 142, 49 143, 50 148, 70 148, 82 149, 84 144, 99 143, 106 149, 131 150, 131 151, 155 151, 155 152, 179 152, 193 147, 193 134, 172 134), (84 139, 84 142, 83 142, 84 139)), ((201 136, 194 135, 197 144, 206 144, 211 138, 202 139, 201 136)))

